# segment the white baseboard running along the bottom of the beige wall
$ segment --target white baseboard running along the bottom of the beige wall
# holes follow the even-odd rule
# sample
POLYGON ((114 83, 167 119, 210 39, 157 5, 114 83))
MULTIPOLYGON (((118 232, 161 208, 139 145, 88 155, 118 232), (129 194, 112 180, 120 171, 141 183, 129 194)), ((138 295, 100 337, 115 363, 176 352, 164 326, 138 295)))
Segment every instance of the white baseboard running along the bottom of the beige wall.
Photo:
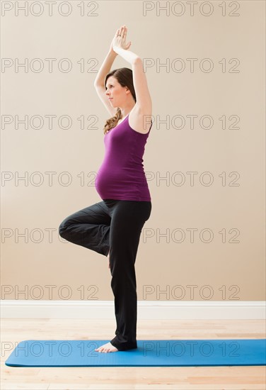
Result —
MULTIPOLYGON (((114 301, 1 300, 1 318, 115 318, 114 301)), ((138 301, 139 320, 265 319, 265 301, 138 301)))

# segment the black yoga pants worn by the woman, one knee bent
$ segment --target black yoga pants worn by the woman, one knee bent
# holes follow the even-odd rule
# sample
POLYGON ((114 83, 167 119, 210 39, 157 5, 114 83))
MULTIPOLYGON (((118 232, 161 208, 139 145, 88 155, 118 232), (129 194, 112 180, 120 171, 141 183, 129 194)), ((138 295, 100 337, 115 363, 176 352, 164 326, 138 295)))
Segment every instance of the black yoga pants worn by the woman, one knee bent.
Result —
POLYGON ((137 284, 135 261, 139 238, 151 215, 151 201, 103 199, 71 214, 59 225, 59 235, 71 243, 108 256, 115 296, 117 350, 137 348, 137 284))

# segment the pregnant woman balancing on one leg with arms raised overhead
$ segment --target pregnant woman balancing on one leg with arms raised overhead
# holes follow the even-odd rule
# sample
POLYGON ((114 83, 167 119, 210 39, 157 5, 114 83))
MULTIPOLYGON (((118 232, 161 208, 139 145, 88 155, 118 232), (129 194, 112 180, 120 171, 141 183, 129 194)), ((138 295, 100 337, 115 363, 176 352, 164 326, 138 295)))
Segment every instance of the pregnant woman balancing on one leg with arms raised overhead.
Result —
POLYGON ((137 284, 134 264, 151 195, 144 173, 146 140, 151 130, 151 96, 141 58, 129 51, 121 26, 100 67, 94 86, 111 118, 103 129, 105 156, 96 176, 102 201, 62 221, 59 235, 76 245, 109 256, 115 296, 115 338, 97 352, 137 348, 137 284), (110 72, 117 55, 132 65, 110 72))

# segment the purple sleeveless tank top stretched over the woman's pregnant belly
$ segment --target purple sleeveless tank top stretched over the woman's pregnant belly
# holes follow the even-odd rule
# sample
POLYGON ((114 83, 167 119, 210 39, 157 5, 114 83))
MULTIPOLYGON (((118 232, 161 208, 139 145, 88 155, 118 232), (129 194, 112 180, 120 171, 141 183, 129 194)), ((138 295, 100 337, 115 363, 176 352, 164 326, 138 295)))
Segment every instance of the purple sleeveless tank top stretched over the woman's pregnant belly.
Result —
POLYGON ((150 131, 143 134, 130 127, 128 114, 105 134, 105 157, 95 182, 101 199, 151 201, 142 158, 150 131))

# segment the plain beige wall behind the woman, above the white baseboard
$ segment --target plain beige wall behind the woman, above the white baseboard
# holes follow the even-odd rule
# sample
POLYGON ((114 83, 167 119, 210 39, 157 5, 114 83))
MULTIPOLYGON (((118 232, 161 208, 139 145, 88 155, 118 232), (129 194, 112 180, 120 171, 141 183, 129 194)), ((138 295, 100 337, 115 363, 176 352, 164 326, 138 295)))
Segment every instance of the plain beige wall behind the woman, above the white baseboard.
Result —
MULTIPOLYGON (((137 255, 139 301, 264 300, 264 1, 238 1, 236 10, 226 2, 225 16, 218 1, 210 3, 212 15, 202 15, 198 2, 190 16, 184 1, 179 17, 174 9, 166 15, 159 9, 156 14, 156 8, 144 16, 141 1, 98 1, 96 16, 81 16, 78 3, 69 1, 69 16, 60 16, 57 6, 49 16, 45 6, 39 17, 30 9, 28 16, 16 16, 11 9, 1 18, 1 55, 8 65, 1 69, 1 116, 7 121, 1 131, 1 284, 9 293, 1 299, 37 299, 39 294, 53 300, 68 294, 69 299, 113 299, 107 258, 67 243, 58 226, 66 216, 101 200, 93 183, 103 160, 102 128, 110 115, 93 81, 115 30, 125 23, 131 50, 154 63, 146 68, 154 126, 144 167, 152 211, 137 255), (16 69, 16 59, 22 63, 25 58, 31 67, 16 69), (44 65, 41 72, 33 71, 37 58, 44 65), (52 72, 47 58, 55 59, 52 72), (58 67, 64 58, 72 64, 65 73, 58 67), (183 72, 177 72, 178 58, 183 72), (194 72, 190 58, 197 58, 194 72), (203 59, 212 62, 212 72, 202 70, 207 62, 200 69, 203 59), (159 66, 167 61, 168 70, 159 66), (28 129, 16 126, 16 117, 26 115, 28 129), (49 115, 55 116, 50 127, 49 115), (192 115, 197 116, 194 128, 192 115), (42 119, 41 128, 33 128, 39 126, 37 119, 30 121, 34 116, 42 119), (71 118, 70 128, 62 128, 67 123, 60 125, 62 116, 71 118), (183 116, 183 128, 175 116, 183 116), (209 126, 207 118, 200 123, 204 116, 211 128, 203 127, 209 126), (162 122, 166 119, 168 124, 162 122), (47 172, 53 172, 52 182, 47 172), (62 172, 68 172, 69 185, 64 185, 67 175, 62 172), (177 172, 183 185, 178 185, 177 172), (196 172, 194 184, 189 172, 196 172), (18 180, 25 175, 25 181, 18 180), (213 182, 206 184, 210 178, 213 182), (18 237, 23 233, 24 238, 18 237), (191 285, 196 286, 194 296, 191 285), (25 288, 25 294, 18 294, 25 288)), ((124 66, 130 67, 117 57, 112 69, 124 66)))

